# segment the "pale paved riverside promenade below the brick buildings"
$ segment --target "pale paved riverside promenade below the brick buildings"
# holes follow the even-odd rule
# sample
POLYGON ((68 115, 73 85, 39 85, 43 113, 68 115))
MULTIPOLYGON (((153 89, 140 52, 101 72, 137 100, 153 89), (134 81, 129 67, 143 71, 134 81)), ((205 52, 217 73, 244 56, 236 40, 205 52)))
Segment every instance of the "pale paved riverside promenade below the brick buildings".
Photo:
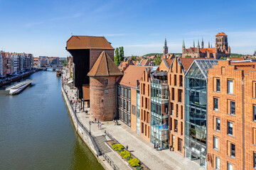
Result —
MULTIPOLYGON (((68 72, 64 71, 63 78, 68 78, 68 72)), ((75 89, 70 89, 70 87, 67 84, 63 85, 65 91, 68 94, 68 98, 72 100, 73 98, 77 98, 75 89)), ((176 152, 171 152, 169 149, 164 149, 161 151, 156 151, 154 149, 154 145, 152 145, 150 142, 144 140, 142 137, 137 135, 136 132, 132 131, 131 128, 129 128, 127 125, 122 123, 121 121, 118 121, 119 125, 114 125, 112 121, 109 122, 102 122, 102 128, 97 128, 97 123, 92 123, 90 125, 90 108, 85 108, 84 111, 80 111, 80 105, 77 106, 73 105, 74 111, 76 110, 76 116, 80 123, 87 128, 87 130, 90 129, 92 136, 94 136, 96 139, 97 137, 101 137, 105 135, 105 131, 112 135, 115 140, 120 142, 123 146, 128 145, 129 146, 129 152, 134 154, 135 157, 137 157, 141 162, 143 162, 146 166, 149 167, 149 169, 190 169, 190 170, 203 170, 201 166, 196 164, 195 162, 192 162, 191 160, 181 157, 181 155, 177 154, 176 152)), ((96 142, 99 144, 99 142, 96 142)), ((105 141, 102 141, 102 145, 106 145, 105 141)), ((106 145, 107 146, 107 145, 106 145)), ((112 159, 112 162, 118 166, 119 169, 131 169, 121 157, 117 156, 115 152, 113 152, 111 149, 107 150, 105 152, 110 159, 112 159)), ((105 167, 105 169, 113 169, 110 164, 107 164, 104 158, 102 156, 99 157, 100 162, 105 167)))

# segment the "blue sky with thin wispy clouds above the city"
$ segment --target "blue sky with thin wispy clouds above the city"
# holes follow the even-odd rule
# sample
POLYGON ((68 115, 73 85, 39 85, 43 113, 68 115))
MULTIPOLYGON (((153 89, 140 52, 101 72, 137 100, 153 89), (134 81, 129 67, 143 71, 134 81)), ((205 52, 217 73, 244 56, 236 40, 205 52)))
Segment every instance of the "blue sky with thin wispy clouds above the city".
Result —
POLYGON ((0 0, 0 50, 67 57, 71 35, 105 36, 124 55, 181 52, 182 41, 193 46, 203 38, 228 35, 231 52, 256 50, 256 1, 251 0, 0 0))

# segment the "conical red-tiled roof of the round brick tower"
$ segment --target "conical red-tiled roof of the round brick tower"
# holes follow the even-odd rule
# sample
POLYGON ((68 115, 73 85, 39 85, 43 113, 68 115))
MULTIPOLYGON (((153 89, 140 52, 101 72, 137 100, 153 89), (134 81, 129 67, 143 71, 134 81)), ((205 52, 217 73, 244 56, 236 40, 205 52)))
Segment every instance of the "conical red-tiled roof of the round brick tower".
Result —
POLYGON ((105 51, 102 51, 100 57, 98 57, 92 69, 87 74, 89 77, 112 77, 122 75, 123 73, 118 69, 105 51))

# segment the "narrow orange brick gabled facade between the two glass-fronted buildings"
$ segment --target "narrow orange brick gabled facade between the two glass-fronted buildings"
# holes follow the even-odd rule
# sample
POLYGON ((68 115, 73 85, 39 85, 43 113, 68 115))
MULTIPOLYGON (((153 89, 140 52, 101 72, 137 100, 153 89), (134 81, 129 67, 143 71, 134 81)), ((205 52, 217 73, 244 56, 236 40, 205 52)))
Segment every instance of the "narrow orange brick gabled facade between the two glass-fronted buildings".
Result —
POLYGON ((184 157, 184 72, 175 57, 168 72, 169 84, 169 145, 184 157), (179 96, 180 93, 180 96, 179 96), (181 142, 181 148, 178 147, 181 142))

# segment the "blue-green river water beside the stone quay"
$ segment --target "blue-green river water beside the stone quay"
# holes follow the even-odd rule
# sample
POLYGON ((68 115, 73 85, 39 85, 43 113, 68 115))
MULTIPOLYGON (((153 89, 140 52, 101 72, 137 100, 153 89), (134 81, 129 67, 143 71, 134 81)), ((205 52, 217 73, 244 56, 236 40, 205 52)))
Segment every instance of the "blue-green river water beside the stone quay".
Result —
POLYGON ((16 96, 0 89, 0 169, 103 169, 75 132, 55 72, 16 96))

